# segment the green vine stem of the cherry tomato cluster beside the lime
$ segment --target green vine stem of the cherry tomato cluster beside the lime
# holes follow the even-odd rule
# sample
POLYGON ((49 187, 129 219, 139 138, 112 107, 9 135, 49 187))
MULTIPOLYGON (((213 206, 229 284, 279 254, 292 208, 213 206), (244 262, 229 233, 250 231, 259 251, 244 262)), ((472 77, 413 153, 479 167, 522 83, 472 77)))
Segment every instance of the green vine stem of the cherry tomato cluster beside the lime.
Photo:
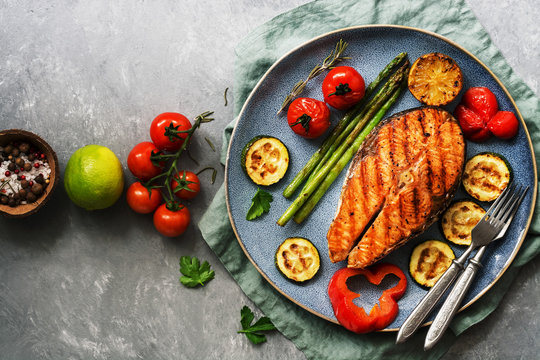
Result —
MULTIPOLYGON (((144 187, 146 187, 146 189, 149 192, 151 192, 152 189, 159 188, 159 187, 167 188, 167 193, 163 193, 162 195, 165 198, 167 209, 171 211, 177 211, 182 208, 182 205, 180 205, 176 200, 174 200, 173 191, 170 186, 172 177, 178 172, 178 168, 176 166, 176 164, 178 163, 178 159, 180 158, 180 155, 184 152, 184 150, 186 150, 189 144, 189 141, 191 137, 193 136, 193 133, 195 133, 195 130, 197 130, 201 126, 201 124, 214 120, 213 118, 210 117, 210 115, 212 114, 213 114, 212 111, 206 111, 200 114, 199 116, 197 116, 195 118, 195 122, 193 123, 193 126, 189 130, 179 131, 178 129, 174 129, 173 127, 171 127, 171 129, 168 128, 168 130, 166 130, 167 131, 166 134, 170 134, 173 137, 178 133, 187 134, 187 136, 183 139, 184 142, 182 143, 182 146, 180 147, 180 149, 178 149, 177 152, 172 153, 172 154, 163 154, 159 152, 159 153, 152 153, 150 155, 150 159, 152 160, 154 164, 160 164, 160 163, 163 163, 164 161, 171 161, 169 169, 166 172, 163 172, 159 175, 154 176, 153 178, 151 178, 150 180, 148 180, 146 183, 143 184, 144 187), (156 180, 159 180, 161 178, 165 178, 163 185, 154 184, 156 180)), ((188 155, 189 155, 189 149, 186 151, 188 152, 188 155)))

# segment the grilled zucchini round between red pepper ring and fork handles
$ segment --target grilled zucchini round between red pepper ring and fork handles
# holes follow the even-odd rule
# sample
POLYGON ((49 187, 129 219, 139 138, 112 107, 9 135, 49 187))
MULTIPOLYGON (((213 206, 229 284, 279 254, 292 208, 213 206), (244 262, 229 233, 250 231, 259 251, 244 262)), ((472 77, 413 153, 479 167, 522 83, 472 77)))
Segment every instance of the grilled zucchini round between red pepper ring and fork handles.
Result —
POLYGON ((450 246, 442 241, 428 240, 414 248, 409 272, 418 284, 432 287, 455 258, 450 246))

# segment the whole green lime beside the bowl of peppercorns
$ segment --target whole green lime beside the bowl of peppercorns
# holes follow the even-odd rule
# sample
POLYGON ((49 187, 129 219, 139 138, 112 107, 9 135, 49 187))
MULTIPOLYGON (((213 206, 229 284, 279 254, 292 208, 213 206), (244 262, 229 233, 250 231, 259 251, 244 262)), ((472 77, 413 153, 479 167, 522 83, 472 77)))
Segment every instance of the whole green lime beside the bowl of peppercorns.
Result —
POLYGON ((105 146, 84 146, 71 155, 66 165, 64 187, 75 205, 86 210, 105 209, 122 195, 122 164, 105 146))

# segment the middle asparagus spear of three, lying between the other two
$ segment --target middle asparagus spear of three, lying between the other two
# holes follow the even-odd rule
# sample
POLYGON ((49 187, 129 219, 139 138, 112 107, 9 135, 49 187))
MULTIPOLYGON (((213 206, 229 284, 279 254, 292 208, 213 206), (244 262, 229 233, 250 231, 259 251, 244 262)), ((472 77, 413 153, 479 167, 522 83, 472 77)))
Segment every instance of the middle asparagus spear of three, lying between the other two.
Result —
POLYGON ((277 221, 278 225, 285 226, 289 222, 289 220, 294 216, 294 214, 304 205, 304 203, 308 200, 308 198, 315 192, 319 184, 322 183, 326 175, 332 170, 333 166, 338 162, 338 160, 342 157, 342 155, 345 153, 345 151, 352 145, 356 137, 360 134, 362 131, 362 128, 364 125, 375 115, 375 113, 383 106, 386 101, 390 98, 394 90, 400 86, 401 80, 406 74, 406 70, 408 68, 408 61, 405 64, 405 66, 402 66, 396 73, 392 76, 388 82, 390 83, 390 86, 388 87, 388 91, 380 98, 378 101, 375 102, 375 104, 368 110, 368 112, 364 115, 364 117, 358 122, 354 130, 349 134, 349 136, 345 139, 345 141, 337 148, 337 150, 332 154, 330 159, 326 162, 326 164, 317 172, 317 175, 313 178, 313 180, 306 186, 305 191, 303 191, 287 208, 287 210, 281 215, 279 220, 277 221))

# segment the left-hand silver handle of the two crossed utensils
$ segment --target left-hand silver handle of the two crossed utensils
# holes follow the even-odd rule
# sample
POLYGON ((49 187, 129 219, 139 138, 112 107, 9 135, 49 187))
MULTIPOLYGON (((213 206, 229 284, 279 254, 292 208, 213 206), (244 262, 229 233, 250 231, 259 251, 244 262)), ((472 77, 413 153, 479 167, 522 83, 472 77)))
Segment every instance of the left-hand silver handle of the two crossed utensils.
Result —
POLYGON ((446 290, 452 285, 459 273, 463 271, 463 263, 465 260, 466 255, 460 257, 458 261, 452 261, 452 265, 450 265, 448 270, 446 270, 439 280, 437 280, 435 285, 429 290, 420 303, 418 303, 403 325, 401 325, 397 335, 396 344, 402 343, 410 338, 423 324, 424 320, 431 313, 431 310, 433 310, 435 305, 437 305, 446 290))

